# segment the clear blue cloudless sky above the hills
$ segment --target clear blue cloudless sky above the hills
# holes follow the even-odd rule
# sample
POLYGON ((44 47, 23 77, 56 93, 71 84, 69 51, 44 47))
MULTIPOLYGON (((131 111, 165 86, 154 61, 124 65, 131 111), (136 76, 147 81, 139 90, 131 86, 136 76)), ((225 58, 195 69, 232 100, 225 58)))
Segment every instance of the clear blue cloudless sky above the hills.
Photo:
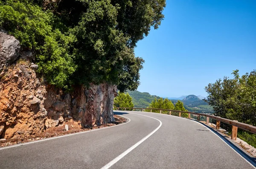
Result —
POLYGON ((256 69, 256 0, 166 0, 163 14, 135 49, 138 91, 206 97, 208 83, 256 69))

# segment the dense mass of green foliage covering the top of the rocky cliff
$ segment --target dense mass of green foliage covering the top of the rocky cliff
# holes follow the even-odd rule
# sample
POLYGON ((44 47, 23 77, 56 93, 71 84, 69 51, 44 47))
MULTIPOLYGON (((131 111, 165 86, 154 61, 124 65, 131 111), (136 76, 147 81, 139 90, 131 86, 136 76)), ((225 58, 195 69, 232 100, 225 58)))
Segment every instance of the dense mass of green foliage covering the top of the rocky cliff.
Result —
POLYGON ((38 72, 59 87, 139 85, 138 40, 157 29, 165 0, 2 0, 0 28, 32 50, 38 72))

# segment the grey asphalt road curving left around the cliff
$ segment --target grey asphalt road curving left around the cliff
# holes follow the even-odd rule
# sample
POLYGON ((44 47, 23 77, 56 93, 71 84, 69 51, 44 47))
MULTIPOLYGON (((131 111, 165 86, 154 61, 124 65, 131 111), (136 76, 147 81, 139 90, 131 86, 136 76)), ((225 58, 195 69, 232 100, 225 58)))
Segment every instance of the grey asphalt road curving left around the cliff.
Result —
POLYGON ((193 120, 146 112, 115 114, 127 117, 128 122, 0 148, 0 169, 255 168, 214 132, 193 120))

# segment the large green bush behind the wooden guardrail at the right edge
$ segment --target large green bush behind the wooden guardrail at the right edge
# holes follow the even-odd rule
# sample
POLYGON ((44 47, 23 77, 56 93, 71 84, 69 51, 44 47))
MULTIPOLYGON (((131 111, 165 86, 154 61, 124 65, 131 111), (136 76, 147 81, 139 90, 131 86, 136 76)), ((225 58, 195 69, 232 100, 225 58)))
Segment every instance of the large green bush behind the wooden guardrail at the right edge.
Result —
MULTIPOLYGON (((224 77, 205 87, 209 94, 207 103, 211 105, 216 116, 230 120, 238 120, 256 126, 256 70, 239 76, 233 71, 233 79, 224 77)), ((222 127, 230 130, 230 125, 222 123, 222 127)), ((238 137, 256 146, 256 135, 239 129, 238 137)))

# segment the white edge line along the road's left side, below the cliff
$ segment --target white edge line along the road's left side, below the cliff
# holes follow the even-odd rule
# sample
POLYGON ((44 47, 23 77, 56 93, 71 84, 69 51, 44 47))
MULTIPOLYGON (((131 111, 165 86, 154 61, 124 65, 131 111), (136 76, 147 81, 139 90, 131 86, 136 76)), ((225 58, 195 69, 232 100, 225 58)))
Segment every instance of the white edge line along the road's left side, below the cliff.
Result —
MULTIPOLYGON (((122 116, 122 115, 119 115, 119 116, 122 116)), ((122 117, 124 117, 124 116, 122 116, 122 117)), ((108 129, 108 128, 111 128, 111 127, 116 127, 116 126, 121 126, 123 124, 127 124, 131 121, 131 119, 129 119, 128 117, 124 117, 124 118, 128 119, 129 121, 127 121, 125 123, 115 125, 115 126, 102 127, 100 129, 91 129, 91 130, 88 130, 88 131, 85 131, 85 132, 76 132, 76 133, 72 133, 72 134, 61 135, 61 136, 56 136, 56 137, 45 138, 45 139, 42 139, 42 140, 31 141, 31 142, 28 142, 28 143, 20 143, 20 144, 16 144, 16 145, 13 145, 13 146, 6 146, 6 147, 3 147, 3 148, 0 148, 0 150, 9 149, 9 148, 17 147, 17 146, 23 146, 23 145, 26 145, 26 144, 38 143, 38 142, 41 142, 41 141, 47 141, 47 140, 52 140, 52 139, 61 138, 61 137, 67 137, 67 136, 71 136, 71 135, 78 135, 78 134, 82 134, 82 133, 93 132, 93 131, 102 130, 102 129, 108 129)))

